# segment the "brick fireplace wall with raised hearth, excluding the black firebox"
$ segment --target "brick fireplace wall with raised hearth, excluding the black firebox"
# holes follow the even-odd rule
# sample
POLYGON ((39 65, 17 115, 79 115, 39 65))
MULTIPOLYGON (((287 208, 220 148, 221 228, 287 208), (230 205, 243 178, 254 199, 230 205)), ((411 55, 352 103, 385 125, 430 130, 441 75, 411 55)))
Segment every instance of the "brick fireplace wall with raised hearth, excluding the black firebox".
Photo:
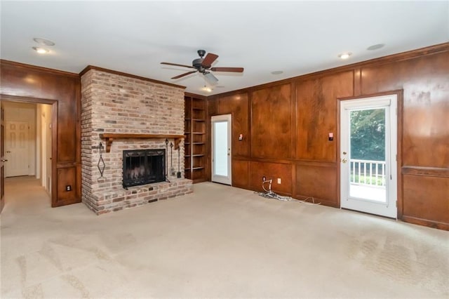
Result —
POLYGON ((81 76, 83 203, 100 215, 191 193, 192 181, 184 176, 184 142, 180 142, 181 178, 177 178, 178 152, 170 147, 175 140, 167 138, 167 150, 166 138, 159 135, 184 135, 183 88, 88 67, 81 76), (105 138, 101 138, 106 133, 145 134, 152 138, 114 138, 107 147, 105 138), (103 175, 98 169, 100 142, 105 161, 103 175), (110 151, 106 152, 106 148, 110 151), (169 182, 124 188, 123 151, 133 150, 165 152, 164 167, 168 165, 168 172, 163 173, 169 182))

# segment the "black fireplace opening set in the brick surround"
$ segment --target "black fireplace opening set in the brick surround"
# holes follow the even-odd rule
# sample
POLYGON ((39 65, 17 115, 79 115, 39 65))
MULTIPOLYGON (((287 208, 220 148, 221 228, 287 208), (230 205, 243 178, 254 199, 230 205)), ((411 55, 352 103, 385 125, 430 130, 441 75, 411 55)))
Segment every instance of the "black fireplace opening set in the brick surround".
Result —
POLYGON ((166 150, 124 150, 123 188, 163 182, 166 150))

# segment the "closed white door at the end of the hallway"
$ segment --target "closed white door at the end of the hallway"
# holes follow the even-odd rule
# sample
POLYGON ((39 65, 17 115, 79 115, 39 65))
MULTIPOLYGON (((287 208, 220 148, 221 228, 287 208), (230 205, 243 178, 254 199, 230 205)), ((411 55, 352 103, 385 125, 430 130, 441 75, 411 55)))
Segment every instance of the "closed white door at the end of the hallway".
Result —
POLYGON ((6 121, 5 157, 8 164, 5 176, 29 174, 29 124, 25 121, 6 121))

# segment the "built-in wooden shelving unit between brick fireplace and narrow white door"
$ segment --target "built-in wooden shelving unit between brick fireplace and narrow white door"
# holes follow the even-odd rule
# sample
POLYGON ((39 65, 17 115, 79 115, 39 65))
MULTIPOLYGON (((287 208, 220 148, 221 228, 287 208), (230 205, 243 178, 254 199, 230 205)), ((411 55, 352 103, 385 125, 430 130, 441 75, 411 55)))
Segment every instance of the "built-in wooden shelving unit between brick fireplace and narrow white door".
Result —
POLYGON ((185 177, 193 182, 207 180, 206 99, 185 95, 185 177))

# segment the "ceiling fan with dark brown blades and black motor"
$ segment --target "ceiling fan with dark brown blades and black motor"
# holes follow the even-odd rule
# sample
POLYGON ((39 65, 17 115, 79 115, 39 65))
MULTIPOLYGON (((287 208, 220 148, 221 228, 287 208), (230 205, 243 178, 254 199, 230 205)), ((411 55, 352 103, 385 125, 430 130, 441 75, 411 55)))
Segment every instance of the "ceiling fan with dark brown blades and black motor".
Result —
POLYGON ((192 66, 178 65, 177 63, 171 63, 171 62, 161 62, 161 65, 175 65, 177 67, 189 67, 190 69, 195 69, 194 71, 190 71, 190 72, 187 72, 184 74, 177 75, 177 76, 173 77, 172 79, 180 79, 189 74, 200 72, 201 74, 204 75, 206 80, 208 80, 210 83, 216 83, 218 81, 218 79, 211 73, 211 71, 212 72, 236 72, 236 73, 243 72, 243 67, 211 67, 213 62, 218 58, 218 55, 215 55, 213 53, 208 53, 208 55, 206 55, 206 57, 204 57, 204 54, 206 54, 206 51, 198 50, 198 55, 200 58, 194 59, 192 61, 192 66))

